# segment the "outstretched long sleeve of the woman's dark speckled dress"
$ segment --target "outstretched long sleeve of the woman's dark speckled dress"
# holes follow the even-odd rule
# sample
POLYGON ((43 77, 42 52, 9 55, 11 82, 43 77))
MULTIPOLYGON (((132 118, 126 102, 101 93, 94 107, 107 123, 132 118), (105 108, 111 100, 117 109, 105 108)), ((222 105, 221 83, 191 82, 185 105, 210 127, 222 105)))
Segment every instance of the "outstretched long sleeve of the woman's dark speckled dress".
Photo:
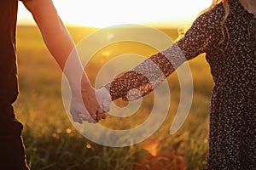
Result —
POLYGON ((213 42, 212 37, 214 37, 214 27, 216 27, 214 20, 216 18, 210 11, 201 14, 184 37, 173 43, 170 48, 154 54, 131 71, 115 77, 112 82, 105 85, 112 100, 119 98, 133 100, 148 94, 184 61, 207 52, 213 42))

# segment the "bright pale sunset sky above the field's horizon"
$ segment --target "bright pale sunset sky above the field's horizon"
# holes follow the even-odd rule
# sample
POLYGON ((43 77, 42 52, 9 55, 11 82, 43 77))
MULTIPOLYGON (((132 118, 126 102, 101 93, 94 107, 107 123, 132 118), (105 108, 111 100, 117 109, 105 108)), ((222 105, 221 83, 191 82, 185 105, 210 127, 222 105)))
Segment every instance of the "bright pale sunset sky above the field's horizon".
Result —
MULTIPOLYGON (((212 0, 54 0, 66 24, 106 27, 120 24, 148 26, 185 26, 212 0)), ((19 24, 34 24, 20 3, 19 24)))

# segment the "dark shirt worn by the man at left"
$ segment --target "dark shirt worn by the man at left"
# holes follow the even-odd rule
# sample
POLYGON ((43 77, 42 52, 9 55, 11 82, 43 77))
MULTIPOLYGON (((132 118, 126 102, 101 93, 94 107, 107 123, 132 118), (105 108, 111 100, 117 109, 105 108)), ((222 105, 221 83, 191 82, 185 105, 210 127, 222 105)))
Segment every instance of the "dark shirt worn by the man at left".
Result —
POLYGON ((0 106, 15 102, 18 95, 16 65, 16 20, 18 0, 3 0, 0 6, 0 106))

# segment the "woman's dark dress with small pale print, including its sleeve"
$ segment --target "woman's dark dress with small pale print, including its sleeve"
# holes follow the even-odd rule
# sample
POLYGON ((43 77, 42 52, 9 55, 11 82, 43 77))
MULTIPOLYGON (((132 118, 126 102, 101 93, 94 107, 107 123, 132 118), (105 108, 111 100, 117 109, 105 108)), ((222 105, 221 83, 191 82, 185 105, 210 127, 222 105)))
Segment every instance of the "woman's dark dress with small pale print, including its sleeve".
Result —
POLYGON ((256 167, 256 19, 238 0, 229 3, 224 37, 221 25, 225 11, 223 4, 218 3, 201 14, 170 48, 115 77, 105 87, 112 99, 137 99, 154 90, 185 60, 206 53, 214 82, 207 169, 253 170, 256 167), (155 73, 157 70, 161 74, 155 73), (137 90, 131 91, 133 88, 137 90))

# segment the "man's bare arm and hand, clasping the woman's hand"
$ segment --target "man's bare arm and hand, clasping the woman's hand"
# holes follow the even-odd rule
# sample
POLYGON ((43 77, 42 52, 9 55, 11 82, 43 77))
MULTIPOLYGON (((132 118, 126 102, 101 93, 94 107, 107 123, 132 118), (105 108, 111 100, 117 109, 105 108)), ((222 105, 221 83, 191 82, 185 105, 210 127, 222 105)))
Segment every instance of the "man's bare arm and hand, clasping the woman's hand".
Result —
MULTIPOLYGON (((73 39, 67 31, 66 26, 61 21, 61 18, 57 14, 55 6, 52 0, 28 0, 23 1, 26 8, 32 13, 34 20, 36 21, 42 37, 44 38, 44 42, 49 49, 50 54, 55 58, 55 61, 60 65, 61 70, 64 71, 66 62, 71 52, 75 48, 73 39)), ((73 59, 75 62, 73 63, 73 68, 83 69, 82 65, 79 62, 79 56, 75 51, 73 52, 73 59)), ((104 111, 100 108, 100 105, 96 99, 95 89, 92 88, 87 76, 84 73, 84 70, 81 71, 80 75, 73 75, 76 72, 69 73, 64 71, 67 81, 70 83, 72 91, 73 91, 73 100, 75 102, 71 104, 71 113, 73 116, 73 121, 82 123, 84 117, 88 114, 84 113, 84 111, 78 111, 76 106, 85 105, 87 111, 90 113, 90 116, 98 122, 101 118, 105 118, 106 115, 104 111), (73 82, 73 77, 82 77, 81 83, 81 92, 75 92, 76 86, 73 84, 77 82, 73 82), (79 93, 82 93, 83 101, 79 101, 79 93), (76 103, 77 102, 77 103, 76 103)), ((81 80, 80 79, 80 80, 81 80)))

